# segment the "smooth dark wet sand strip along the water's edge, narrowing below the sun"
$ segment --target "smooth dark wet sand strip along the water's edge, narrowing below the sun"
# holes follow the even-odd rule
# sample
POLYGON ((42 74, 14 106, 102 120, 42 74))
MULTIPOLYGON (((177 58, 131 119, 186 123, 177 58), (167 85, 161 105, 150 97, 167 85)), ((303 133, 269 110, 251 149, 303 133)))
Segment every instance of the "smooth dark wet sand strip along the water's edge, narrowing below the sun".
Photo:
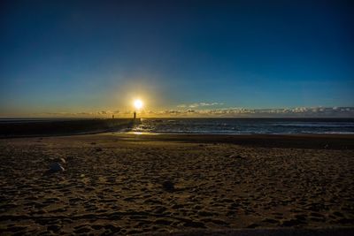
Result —
POLYGON ((130 141, 186 141, 228 143, 254 147, 354 149, 354 134, 190 134, 190 133, 99 133, 130 141))

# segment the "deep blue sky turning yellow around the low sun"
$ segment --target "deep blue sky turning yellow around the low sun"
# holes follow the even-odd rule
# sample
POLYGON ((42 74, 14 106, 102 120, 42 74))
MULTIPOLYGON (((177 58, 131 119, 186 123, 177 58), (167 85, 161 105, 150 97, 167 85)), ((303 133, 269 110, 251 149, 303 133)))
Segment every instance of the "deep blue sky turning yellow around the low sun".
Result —
POLYGON ((0 116, 124 116, 135 98, 146 116, 353 116, 353 11, 350 0, 1 1, 0 116))

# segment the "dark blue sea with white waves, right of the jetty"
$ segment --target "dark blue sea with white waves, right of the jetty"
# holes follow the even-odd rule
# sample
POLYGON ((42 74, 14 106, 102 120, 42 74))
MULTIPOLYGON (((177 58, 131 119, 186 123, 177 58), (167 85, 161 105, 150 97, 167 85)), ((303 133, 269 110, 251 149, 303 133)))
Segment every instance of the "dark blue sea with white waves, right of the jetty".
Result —
POLYGON ((142 118, 143 133, 354 133, 354 118, 142 118))

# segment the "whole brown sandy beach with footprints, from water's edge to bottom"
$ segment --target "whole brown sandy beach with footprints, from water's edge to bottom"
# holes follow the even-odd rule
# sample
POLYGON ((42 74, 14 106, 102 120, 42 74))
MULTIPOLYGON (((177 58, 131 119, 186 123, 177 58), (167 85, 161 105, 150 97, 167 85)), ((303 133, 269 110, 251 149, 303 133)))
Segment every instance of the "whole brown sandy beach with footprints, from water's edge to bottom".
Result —
POLYGON ((338 135, 3 139, 0 234, 350 235, 353 143, 338 135), (65 171, 45 174, 59 157, 65 171))

